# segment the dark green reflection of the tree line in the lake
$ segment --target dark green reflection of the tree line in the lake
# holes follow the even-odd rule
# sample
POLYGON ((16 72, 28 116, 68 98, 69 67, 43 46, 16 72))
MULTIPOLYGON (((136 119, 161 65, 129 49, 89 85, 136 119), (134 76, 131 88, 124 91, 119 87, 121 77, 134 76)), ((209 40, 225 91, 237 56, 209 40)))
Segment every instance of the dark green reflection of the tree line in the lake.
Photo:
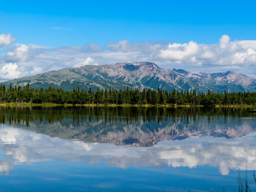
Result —
MULTIPOLYGON (((248 117, 246 108, 162 108, 162 107, 87 107, 77 106, 24 106, 24 107, 0 107, 0 124, 9 123, 29 125, 33 122, 45 122, 52 124, 54 122, 60 123, 60 128, 68 126, 78 126, 83 123, 96 124, 99 122, 156 122, 166 126, 166 123, 172 122, 172 124, 191 124, 192 128, 198 121, 216 122, 220 118, 223 118, 224 123, 228 123, 230 120, 226 117, 233 116, 235 118, 248 117), (213 115, 214 114, 214 115, 213 115), (97 118, 95 118, 97 116, 97 118)), ((119 126, 122 129, 122 126, 119 126)), ((44 126, 41 128, 45 128, 44 126)), ((113 128, 113 127, 112 127, 113 128)), ((140 127, 144 132, 148 132, 158 129, 159 126, 144 126, 140 127)), ((183 126, 179 127, 183 128, 183 126)), ((211 127, 212 128, 212 127, 211 127)), ((215 128, 215 127, 214 127, 215 128)), ((39 130, 39 128, 37 128, 39 130)), ((116 129, 116 127, 115 127, 116 129)), ((208 129, 208 128, 207 128, 208 129)))

